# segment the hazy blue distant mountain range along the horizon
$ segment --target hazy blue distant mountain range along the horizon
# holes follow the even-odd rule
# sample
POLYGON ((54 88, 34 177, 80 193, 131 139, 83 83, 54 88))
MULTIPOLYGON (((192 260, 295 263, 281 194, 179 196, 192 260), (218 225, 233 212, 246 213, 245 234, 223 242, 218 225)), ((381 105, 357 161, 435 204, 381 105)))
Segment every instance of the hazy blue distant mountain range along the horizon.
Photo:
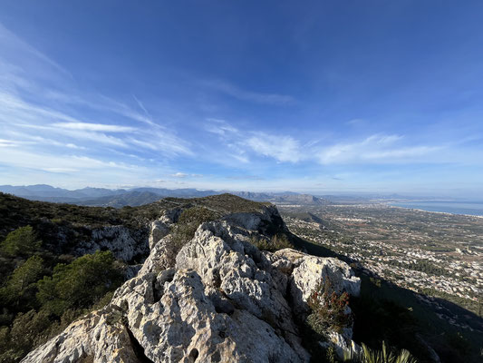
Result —
MULTIPOLYGON (((32 201, 51 201, 71 203, 87 206, 101 206, 121 208, 126 205, 132 207, 158 201, 161 198, 201 198, 208 195, 221 194, 227 191, 198 191, 193 188, 166 189, 166 188, 133 188, 133 189, 106 189, 83 188, 70 191, 63 188, 54 188, 50 185, 37 184, 25 186, 0 185, 0 191, 14 194, 18 197, 32 201)), ((284 192, 252 192, 228 191, 232 194, 251 201, 271 201, 278 204, 304 204, 325 205, 331 204, 325 198, 309 194, 299 194, 294 191, 284 192)))

